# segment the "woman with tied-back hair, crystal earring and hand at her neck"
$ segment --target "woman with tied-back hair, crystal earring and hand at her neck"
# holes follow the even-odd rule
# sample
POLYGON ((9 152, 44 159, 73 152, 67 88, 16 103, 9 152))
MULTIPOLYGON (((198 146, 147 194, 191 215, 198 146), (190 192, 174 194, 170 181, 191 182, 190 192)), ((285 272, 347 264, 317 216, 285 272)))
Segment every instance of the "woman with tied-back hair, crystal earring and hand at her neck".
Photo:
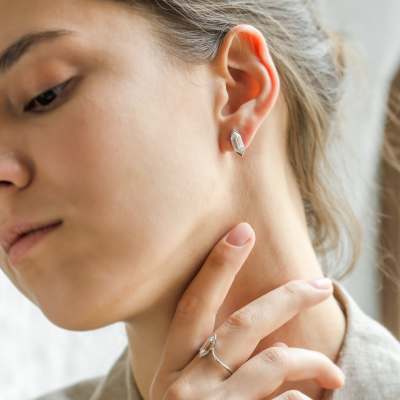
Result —
POLYGON ((398 398, 398 342, 317 257, 347 230, 350 267, 359 239, 325 184, 342 62, 308 2, 0 19, 2 268, 54 324, 129 340, 42 399, 398 398))

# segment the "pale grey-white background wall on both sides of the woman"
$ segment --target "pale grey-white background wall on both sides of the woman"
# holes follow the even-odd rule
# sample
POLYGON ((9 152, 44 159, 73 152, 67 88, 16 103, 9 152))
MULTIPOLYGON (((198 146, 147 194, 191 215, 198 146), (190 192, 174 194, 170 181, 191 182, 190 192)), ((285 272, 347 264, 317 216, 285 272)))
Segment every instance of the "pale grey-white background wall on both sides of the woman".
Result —
MULTIPOLYGON (((378 319, 375 267, 376 196, 388 88, 400 62, 400 1, 318 0, 326 25, 346 34, 365 77, 353 66, 347 82, 346 165, 339 171, 363 222, 366 245, 345 286, 378 319)), ((29 400, 103 375, 127 345, 122 323, 90 332, 52 325, 0 272, 0 400, 29 400)))

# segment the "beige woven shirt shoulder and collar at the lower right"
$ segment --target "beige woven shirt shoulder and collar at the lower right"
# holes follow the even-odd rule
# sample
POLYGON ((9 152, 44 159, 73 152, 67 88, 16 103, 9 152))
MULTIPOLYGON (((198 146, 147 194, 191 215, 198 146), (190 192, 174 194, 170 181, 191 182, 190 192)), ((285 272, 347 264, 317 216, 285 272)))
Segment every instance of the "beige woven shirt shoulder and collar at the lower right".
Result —
POLYGON ((347 328, 338 365, 346 384, 333 400, 400 398, 400 343, 381 324, 368 317, 339 283, 335 297, 346 314, 347 328))

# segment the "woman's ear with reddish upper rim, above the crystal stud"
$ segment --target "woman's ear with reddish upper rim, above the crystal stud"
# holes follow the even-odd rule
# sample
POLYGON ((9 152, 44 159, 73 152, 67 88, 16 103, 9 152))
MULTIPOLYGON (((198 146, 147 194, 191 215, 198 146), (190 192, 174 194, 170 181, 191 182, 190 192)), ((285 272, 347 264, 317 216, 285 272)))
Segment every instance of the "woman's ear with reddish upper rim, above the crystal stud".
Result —
POLYGON ((251 25, 237 25, 223 39, 211 63, 218 76, 215 117, 222 153, 234 152, 231 132, 236 129, 244 147, 274 107, 280 82, 262 33, 251 25))

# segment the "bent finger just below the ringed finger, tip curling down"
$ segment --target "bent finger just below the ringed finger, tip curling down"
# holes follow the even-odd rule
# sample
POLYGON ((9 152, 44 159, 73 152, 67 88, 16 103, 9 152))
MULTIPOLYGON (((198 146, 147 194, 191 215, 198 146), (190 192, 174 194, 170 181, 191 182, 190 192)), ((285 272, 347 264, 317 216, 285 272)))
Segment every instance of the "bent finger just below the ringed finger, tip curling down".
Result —
POLYGON ((221 390, 228 390, 236 398, 264 399, 284 381, 309 379, 326 389, 340 388, 345 381, 339 367, 322 353, 270 347, 243 364, 223 382, 221 390))

